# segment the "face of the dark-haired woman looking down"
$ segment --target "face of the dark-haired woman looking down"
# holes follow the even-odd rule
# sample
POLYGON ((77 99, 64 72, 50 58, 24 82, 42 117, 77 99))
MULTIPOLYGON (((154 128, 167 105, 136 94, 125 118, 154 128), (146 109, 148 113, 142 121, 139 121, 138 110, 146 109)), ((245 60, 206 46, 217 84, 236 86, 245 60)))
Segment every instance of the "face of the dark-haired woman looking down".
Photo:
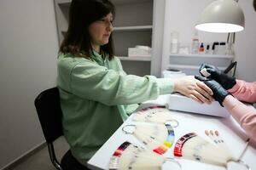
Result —
POLYGON ((89 33, 92 47, 100 47, 107 44, 111 32, 113 31, 113 14, 109 13, 101 20, 96 20, 89 26, 89 33))

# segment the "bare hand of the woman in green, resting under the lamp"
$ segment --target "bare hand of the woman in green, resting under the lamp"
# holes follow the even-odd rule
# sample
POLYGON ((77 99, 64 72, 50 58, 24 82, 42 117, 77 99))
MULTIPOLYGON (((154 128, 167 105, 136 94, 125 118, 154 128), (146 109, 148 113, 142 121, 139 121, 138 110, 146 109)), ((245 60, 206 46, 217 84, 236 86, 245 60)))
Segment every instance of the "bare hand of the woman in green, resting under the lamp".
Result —
POLYGON ((174 80, 174 92, 179 92, 199 103, 212 103, 212 90, 206 84, 193 76, 181 77, 174 80))

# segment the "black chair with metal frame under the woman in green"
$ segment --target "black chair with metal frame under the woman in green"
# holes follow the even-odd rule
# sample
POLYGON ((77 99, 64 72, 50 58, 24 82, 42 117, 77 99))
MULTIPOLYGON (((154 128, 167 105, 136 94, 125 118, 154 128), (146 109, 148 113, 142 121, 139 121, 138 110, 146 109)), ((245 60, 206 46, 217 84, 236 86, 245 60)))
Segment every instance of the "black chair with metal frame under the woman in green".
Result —
POLYGON ((60 104, 60 94, 58 88, 44 90, 35 99, 35 106, 38 118, 46 139, 50 161, 58 170, 87 170, 77 161, 70 150, 62 157, 61 163, 55 157, 54 141, 63 135, 62 131, 62 111, 60 104))

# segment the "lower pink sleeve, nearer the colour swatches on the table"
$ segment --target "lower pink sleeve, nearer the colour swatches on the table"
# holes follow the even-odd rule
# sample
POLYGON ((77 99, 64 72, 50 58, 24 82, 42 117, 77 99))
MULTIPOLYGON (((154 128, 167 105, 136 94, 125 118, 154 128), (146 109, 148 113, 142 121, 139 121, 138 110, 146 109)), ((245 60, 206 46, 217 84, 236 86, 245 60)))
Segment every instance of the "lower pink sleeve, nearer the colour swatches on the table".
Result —
POLYGON ((224 107, 236 119, 247 135, 256 141, 256 110, 247 106, 231 95, 224 99, 224 107))

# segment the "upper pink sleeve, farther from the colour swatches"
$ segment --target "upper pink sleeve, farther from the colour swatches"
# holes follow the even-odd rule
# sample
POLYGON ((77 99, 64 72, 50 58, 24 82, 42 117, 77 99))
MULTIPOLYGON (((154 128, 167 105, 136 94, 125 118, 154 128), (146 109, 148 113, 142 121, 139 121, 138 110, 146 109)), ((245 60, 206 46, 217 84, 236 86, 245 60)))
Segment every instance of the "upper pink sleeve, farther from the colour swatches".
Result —
POLYGON ((256 102, 256 82, 236 80, 236 85, 229 89, 230 94, 248 103, 256 102))

